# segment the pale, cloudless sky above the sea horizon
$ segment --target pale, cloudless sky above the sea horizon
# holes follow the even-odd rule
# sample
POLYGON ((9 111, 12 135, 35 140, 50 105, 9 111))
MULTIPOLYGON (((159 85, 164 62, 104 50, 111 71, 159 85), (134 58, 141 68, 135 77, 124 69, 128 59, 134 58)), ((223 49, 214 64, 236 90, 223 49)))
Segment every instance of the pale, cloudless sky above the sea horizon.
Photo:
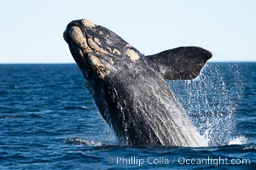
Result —
POLYGON ((211 61, 256 61, 254 0, 1 0, 0 63, 74 63, 72 20, 107 27, 145 55, 181 46, 211 61))

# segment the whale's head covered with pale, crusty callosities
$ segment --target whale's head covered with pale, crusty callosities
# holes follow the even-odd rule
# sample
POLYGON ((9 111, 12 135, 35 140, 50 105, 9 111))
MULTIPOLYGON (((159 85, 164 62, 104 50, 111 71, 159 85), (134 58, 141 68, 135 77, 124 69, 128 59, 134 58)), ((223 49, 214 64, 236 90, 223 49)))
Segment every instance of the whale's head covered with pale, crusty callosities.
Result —
POLYGON ((124 59, 134 62, 141 55, 113 31, 90 20, 73 20, 63 33, 84 78, 103 80, 119 70, 124 59))

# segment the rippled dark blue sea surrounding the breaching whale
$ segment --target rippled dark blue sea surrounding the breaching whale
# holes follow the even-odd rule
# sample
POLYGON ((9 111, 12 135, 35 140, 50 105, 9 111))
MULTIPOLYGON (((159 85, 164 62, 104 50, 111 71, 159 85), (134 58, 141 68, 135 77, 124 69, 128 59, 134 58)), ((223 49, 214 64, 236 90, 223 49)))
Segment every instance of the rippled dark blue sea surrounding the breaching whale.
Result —
POLYGON ((256 63, 168 83, 210 146, 121 146, 77 65, 0 65, 0 169, 256 169, 256 63))

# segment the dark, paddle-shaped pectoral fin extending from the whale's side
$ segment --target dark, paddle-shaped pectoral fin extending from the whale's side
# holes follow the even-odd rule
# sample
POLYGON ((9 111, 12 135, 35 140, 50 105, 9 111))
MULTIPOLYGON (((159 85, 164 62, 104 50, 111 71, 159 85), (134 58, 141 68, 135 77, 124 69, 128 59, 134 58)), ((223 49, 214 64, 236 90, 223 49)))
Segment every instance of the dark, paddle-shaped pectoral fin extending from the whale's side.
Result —
POLYGON ((211 52, 198 47, 180 47, 148 55, 148 64, 166 79, 190 80, 199 76, 201 68, 211 59, 211 52))

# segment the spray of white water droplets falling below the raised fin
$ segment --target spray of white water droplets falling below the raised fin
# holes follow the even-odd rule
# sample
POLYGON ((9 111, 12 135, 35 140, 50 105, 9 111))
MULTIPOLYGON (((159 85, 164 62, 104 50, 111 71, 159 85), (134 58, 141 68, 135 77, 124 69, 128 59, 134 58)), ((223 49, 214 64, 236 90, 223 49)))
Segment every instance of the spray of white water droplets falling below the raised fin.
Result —
POLYGON ((235 136, 233 116, 243 91, 237 64, 210 63, 195 80, 169 81, 169 85, 209 145, 229 144, 235 136))

